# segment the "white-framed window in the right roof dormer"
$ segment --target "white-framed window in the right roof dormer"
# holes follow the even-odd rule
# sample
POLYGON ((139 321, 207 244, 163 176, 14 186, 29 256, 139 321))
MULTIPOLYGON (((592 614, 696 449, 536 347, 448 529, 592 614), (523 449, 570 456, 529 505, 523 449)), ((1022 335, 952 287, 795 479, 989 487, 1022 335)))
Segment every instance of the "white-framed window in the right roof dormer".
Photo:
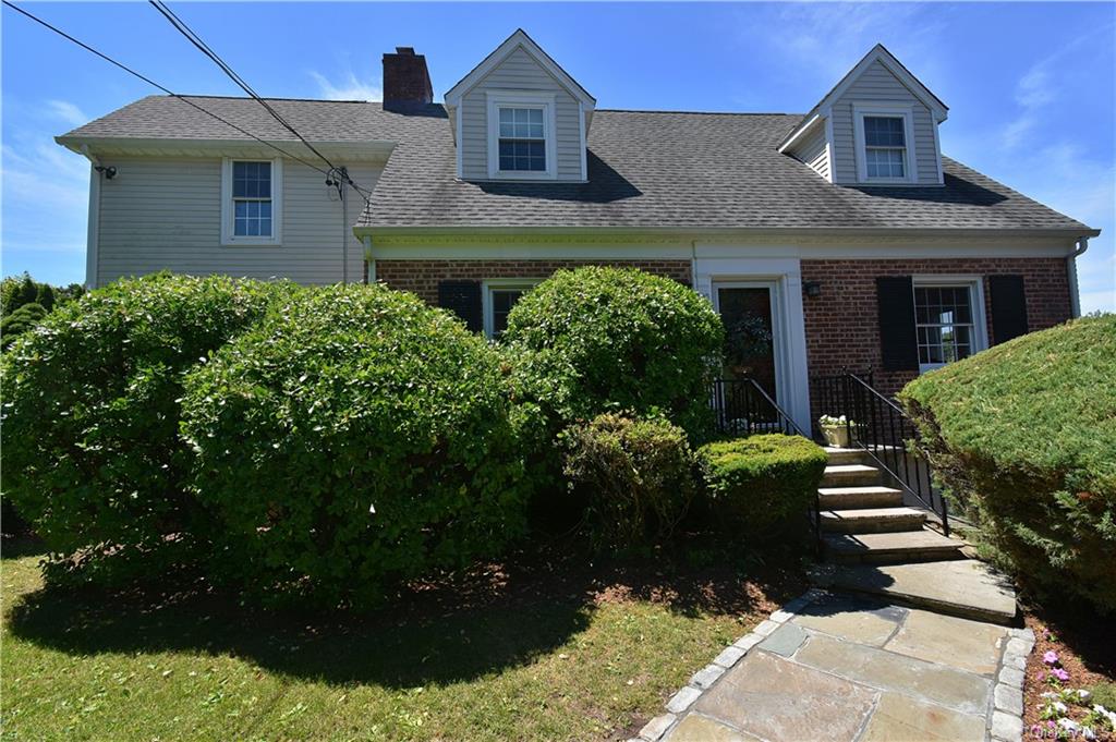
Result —
POLYGON ((856 168, 863 183, 915 183, 914 108, 853 105, 856 168))

